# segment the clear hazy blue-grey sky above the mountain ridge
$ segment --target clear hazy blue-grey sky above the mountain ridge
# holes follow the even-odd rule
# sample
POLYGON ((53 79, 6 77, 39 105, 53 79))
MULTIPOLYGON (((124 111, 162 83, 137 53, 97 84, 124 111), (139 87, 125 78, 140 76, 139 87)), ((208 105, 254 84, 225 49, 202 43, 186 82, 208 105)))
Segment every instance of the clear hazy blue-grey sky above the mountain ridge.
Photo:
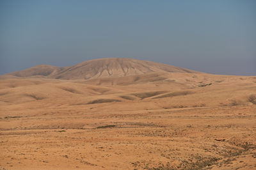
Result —
POLYGON ((256 75, 255 9, 255 0, 1 0, 0 74, 113 57, 256 75))

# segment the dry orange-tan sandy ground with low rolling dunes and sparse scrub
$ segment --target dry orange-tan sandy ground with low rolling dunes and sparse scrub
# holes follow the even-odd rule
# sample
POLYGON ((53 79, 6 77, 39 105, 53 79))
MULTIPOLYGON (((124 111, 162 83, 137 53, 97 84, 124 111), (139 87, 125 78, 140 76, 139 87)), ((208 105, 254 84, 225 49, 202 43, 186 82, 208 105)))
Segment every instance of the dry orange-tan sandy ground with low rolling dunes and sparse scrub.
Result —
POLYGON ((0 169, 256 169, 256 77, 0 80, 0 169))

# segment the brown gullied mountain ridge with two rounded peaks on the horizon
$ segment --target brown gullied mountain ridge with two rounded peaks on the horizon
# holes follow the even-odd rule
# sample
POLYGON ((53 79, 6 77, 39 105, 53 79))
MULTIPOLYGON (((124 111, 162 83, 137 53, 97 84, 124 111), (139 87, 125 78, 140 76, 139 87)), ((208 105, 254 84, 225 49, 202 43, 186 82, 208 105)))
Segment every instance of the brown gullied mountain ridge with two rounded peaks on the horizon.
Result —
POLYGON ((124 77, 145 73, 198 73, 186 68, 128 58, 103 58, 84 61, 74 66, 38 65, 26 70, 8 73, 16 77, 45 77, 51 79, 95 79, 97 77, 124 77))

